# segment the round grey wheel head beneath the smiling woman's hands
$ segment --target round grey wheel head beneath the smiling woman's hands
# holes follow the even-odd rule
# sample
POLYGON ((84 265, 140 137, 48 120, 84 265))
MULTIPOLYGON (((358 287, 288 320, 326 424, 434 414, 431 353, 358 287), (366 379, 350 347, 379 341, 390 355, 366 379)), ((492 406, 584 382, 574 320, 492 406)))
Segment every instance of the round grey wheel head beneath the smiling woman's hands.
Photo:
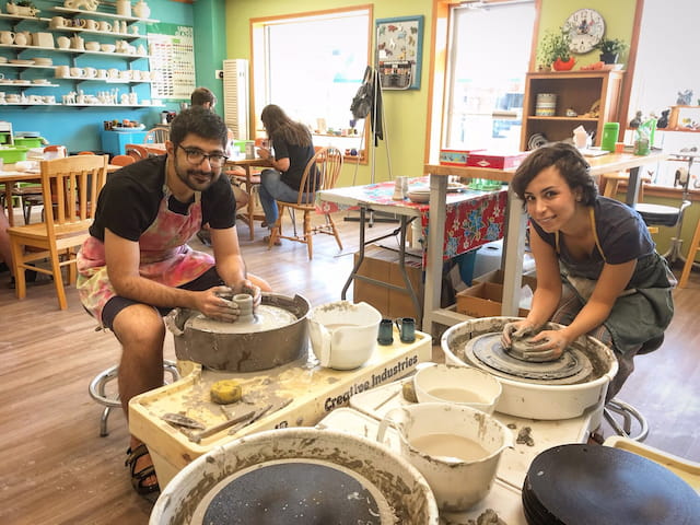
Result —
POLYGON ((591 361, 581 350, 569 347, 555 361, 532 362, 514 358, 501 345, 501 332, 483 334, 470 339, 465 357, 477 366, 502 377, 521 377, 557 384, 575 384, 593 372, 591 361))

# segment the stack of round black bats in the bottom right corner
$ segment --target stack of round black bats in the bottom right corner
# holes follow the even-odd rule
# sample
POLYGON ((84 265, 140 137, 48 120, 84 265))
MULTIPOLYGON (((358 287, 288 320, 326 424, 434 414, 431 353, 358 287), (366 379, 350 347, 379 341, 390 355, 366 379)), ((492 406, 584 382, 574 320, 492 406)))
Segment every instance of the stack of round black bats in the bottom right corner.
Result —
POLYGON ((700 497, 682 479, 609 446, 546 450, 530 464, 522 498, 530 525, 691 525, 700 516, 700 497))

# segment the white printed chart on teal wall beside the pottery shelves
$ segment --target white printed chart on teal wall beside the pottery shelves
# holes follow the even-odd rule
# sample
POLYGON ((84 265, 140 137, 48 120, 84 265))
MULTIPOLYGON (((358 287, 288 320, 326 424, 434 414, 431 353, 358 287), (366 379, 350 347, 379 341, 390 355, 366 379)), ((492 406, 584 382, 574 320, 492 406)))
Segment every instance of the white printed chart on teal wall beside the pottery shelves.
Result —
POLYGON ((149 25, 149 56, 155 80, 151 98, 189 101, 195 91, 195 32, 190 25, 149 25))

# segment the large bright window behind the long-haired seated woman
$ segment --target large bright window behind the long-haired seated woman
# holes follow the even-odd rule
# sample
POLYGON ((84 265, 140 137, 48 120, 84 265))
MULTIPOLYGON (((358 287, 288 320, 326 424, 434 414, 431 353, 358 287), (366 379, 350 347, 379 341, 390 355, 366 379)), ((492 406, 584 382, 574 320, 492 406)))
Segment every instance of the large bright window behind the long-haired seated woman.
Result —
POLYGON ((371 15, 354 9, 252 21, 258 131, 262 108, 277 104, 308 125, 315 145, 359 149, 364 122, 351 120, 350 104, 370 60, 371 15))

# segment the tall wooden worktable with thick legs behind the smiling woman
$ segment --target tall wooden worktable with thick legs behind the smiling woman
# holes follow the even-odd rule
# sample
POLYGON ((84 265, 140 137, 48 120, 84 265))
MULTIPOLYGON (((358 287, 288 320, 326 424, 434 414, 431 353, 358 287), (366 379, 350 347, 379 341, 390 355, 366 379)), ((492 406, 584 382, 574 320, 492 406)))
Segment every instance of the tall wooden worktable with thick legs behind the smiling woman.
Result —
MULTIPOLYGON (((591 165, 591 175, 600 176, 605 173, 630 171, 626 202, 637 203, 640 177, 639 170, 648 164, 665 161, 667 154, 654 151, 649 155, 633 155, 631 153, 610 153, 603 156, 586 158, 591 165)), ((436 164, 425 164, 423 173, 430 177, 430 224, 442 231, 445 225, 445 199, 447 191, 447 176, 457 175, 467 178, 488 178, 510 183, 515 170, 497 170, 488 167, 456 167, 436 164)), ((523 257, 525 255, 525 226, 527 215, 523 209, 523 201, 509 189, 505 218, 505 235, 503 237, 503 302, 501 315, 517 316, 521 277, 523 275, 523 257)), ((423 304, 422 329, 432 334, 432 324, 452 326, 468 319, 468 316, 453 310, 440 307, 442 282, 442 238, 440 235, 428 236, 428 258, 425 265, 425 303, 423 304)))

